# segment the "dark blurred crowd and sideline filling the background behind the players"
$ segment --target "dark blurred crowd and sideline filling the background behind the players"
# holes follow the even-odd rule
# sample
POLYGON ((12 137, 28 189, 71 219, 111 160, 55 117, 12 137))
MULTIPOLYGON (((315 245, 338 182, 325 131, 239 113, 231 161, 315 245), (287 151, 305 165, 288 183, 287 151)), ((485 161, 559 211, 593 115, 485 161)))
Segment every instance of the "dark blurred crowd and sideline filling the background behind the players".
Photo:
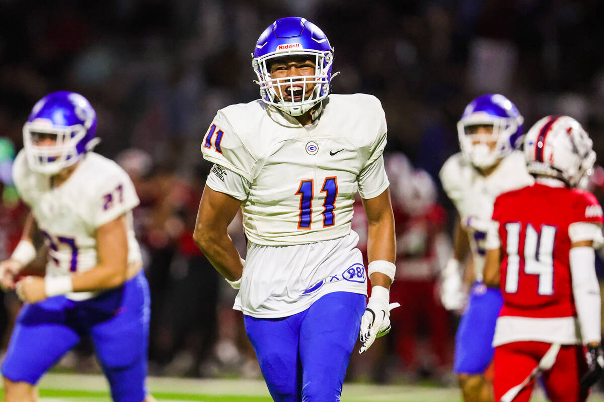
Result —
MULTIPOLYGON (((376 95, 388 121, 399 249, 391 298, 403 308, 394 336, 355 354, 349 378, 446 380, 458 316, 440 305, 437 278, 455 213, 437 174, 458 151, 455 124, 475 96, 503 93, 525 130, 567 114, 604 156, 603 14, 599 0, 0 0, 0 259, 27 212, 10 177, 22 125, 48 92, 82 93, 97 111, 97 152, 126 169, 141 199, 150 373, 258 377, 234 291, 191 239, 211 167, 199 147, 217 109, 259 98, 257 36, 277 18, 303 16, 335 48, 333 92, 376 95)), ((602 203, 604 170, 592 181, 602 203)), ((354 219, 363 239, 360 203, 354 219)), ((240 221, 232 228, 245 255, 240 221)), ((4 306, 2 348, 20 304, 7 294, 4 306)), ((92 359, 83 342, 61 365, 95 369, 92 359)))

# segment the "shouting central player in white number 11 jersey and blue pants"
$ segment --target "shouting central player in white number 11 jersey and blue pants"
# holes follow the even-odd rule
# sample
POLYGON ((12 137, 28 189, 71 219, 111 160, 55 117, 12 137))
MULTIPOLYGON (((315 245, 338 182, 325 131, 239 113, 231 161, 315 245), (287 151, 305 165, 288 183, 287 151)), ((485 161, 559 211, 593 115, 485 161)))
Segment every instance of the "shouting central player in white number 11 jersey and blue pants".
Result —
POLYGON ((316 25, 276 20, 252 60, 261 99, 219 110, 202 143, 214 166, 194 239, 239 289, 234 309, 280 402, 339 401, 357 334, 362 353, 390 330, 395 240, 384 111, 374 96, 329 95, 332 63, 316 25), (368 303, 350 228, 357 191, 368 219, 368 303), (245 262, 226 233, 239 207, 245 262))

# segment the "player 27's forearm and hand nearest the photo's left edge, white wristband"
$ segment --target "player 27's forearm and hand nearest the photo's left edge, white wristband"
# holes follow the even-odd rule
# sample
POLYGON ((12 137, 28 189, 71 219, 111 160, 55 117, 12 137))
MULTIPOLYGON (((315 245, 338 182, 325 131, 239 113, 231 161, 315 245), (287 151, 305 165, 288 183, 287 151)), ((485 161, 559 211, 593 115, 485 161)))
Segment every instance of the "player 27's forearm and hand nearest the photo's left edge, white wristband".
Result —
POLYGON ((19 271, 36 258, 36 248, 33 245, 33 236, 37 231, 36 220, 31 212, 25 218, 23 234, 13 254, 0 263, 0 285, 4 289, 14 289, 14 278, 19 271))

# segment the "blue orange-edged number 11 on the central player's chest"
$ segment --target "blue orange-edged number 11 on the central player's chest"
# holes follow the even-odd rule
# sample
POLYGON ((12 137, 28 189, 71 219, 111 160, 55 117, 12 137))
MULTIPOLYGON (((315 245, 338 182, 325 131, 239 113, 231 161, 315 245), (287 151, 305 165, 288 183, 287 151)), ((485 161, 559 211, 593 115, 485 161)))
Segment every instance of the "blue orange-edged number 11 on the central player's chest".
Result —
MULTIPOLYGON (((312 223, 312 198, 314 180, 301 180, 296 195, 300 195, 300 213, 298 214, 298 229, 310 229, 312 223)), ((336 197, 338 196, 338 180, 336 177, 326 177, 321 187, 325 193, 323 201, 323 227, 335 225, 336 197)))

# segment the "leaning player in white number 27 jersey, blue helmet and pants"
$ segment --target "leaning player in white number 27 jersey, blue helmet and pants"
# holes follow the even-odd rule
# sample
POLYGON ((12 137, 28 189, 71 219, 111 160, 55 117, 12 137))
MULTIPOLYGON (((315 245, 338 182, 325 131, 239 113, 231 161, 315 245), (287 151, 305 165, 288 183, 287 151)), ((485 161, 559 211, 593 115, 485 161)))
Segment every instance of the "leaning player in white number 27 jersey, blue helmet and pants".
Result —
POLYGON ((53 92, 23 128, 14 184, 30 207, 21 242, 0 263, 0 281, 25 302, 8 345, 4 401, 37 401, 36 383, 82 336, 90 336, 114 401, 146 395, 149 287, 132 228, 138 196, 116 163, 92 152, 97 118, 82 95, 53 92), (48 247, 45 277, 21 277, 48 247))

